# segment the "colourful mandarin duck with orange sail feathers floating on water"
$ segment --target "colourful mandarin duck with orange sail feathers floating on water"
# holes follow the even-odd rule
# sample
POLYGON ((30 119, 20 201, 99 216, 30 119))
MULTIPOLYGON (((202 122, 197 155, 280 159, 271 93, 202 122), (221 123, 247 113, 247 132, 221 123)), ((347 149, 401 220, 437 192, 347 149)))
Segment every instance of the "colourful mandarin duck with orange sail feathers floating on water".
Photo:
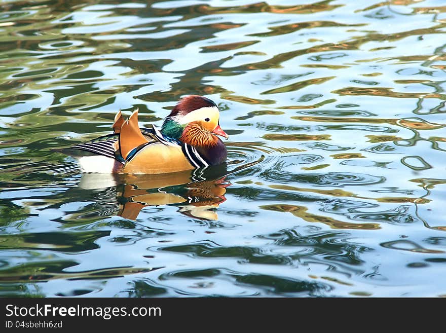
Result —
POLYGON ((125 174, 178 172, 218 165, 227 158, 225 144, 215 136, 228 139, 219 125, 218 107, 198 95, 182 98, 161 130, 155 125, 139 128, 137 109, 127 121, 120 110, 113 130, 64 153, 76 158, 85 172, 125 174))

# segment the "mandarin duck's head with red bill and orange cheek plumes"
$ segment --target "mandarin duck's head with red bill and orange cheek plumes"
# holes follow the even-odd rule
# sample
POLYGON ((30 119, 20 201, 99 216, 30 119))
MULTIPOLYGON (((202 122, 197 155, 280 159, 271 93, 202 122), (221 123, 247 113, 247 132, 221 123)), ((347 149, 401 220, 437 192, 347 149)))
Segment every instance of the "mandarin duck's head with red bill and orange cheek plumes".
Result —
POLYGON ((161 132, 164 136, 194 146, 213 146, 219 140, 215 135, 228 138, 218 121, 218 107, 213 101, 189 95, 175 105, 164 120, 161 132))

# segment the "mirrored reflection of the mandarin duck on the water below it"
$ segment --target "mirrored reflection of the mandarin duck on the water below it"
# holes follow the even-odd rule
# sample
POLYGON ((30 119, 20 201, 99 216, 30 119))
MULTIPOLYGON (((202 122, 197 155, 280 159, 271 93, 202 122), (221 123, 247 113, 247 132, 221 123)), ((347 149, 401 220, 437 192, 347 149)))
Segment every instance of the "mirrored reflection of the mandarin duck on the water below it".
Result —
POLYGON ((144 207, 169 205, 193 218, 216 220, 215 208, 226 201, 226 188, 231 185, 225 174, 226 164, 155 175, 84 173, 79 187, 84 190, 116 187, 116 192, 108 198, 101 195, 97 204, 108 211, 119 209, 117 215, 127 219, 136 219, 144 207), (110 207, 114 195, 116 207, 110 207))

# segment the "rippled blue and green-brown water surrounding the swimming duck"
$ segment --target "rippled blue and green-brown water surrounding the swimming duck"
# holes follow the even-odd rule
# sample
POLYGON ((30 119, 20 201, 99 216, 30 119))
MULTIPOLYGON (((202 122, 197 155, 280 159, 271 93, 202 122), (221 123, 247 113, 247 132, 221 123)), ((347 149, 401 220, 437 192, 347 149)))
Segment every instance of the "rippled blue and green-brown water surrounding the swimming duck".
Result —
POLYGON ((0 3, 0 295, 446 295, 444 1, 0 3), (214 100, 228 165, 53 151, 214 100))

